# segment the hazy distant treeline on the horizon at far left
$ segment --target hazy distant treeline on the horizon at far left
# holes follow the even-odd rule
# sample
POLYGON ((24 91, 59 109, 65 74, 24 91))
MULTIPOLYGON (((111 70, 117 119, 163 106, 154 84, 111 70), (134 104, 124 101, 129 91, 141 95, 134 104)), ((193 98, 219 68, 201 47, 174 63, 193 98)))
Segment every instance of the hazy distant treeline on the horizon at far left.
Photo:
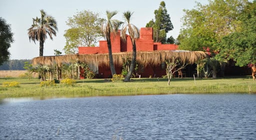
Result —
POLYGON ((24 69, 24 62, 28 61, 31 62, 30 59, 12 59, 2 63, 0 65, 0 70, 25 70, 24 69))

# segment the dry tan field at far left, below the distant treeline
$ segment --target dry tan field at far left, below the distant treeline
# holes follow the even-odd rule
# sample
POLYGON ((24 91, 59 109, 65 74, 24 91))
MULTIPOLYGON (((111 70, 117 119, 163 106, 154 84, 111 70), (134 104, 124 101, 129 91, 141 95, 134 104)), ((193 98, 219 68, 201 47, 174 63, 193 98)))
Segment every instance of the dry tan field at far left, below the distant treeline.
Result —
MULTIPOLYGON (((5 77, 27 77, 26 70, 0 70, 0 78, 5 77)), ((38 77, 38 74, 33 72, 32 77, 38 77)))

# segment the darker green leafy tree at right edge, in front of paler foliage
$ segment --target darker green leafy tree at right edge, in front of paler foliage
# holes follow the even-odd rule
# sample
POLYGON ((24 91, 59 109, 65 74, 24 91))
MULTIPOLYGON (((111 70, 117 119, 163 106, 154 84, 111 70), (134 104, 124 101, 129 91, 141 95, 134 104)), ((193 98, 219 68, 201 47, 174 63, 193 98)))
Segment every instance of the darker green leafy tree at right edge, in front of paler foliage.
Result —
POLYGON ((221 51, 217 57, 233 59, 236 65, 256 63, 256 1, 249 2, 238 17, 242 21, 241 31, 233 32, 218 43, 221 51))

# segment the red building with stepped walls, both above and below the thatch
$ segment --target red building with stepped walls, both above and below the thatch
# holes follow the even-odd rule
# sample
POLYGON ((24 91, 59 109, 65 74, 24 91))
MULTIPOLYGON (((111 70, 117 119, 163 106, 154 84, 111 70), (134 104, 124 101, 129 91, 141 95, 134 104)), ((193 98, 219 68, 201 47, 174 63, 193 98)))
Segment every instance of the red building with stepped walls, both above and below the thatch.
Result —
MULTIPOLYGON (((126 42, 120 37, 120 30, 116 35, 111 35, 111 46, 112 53, 118 52, 129 52, 132 51, 132 43, 129 35, 126 35, 126 42)), ((140 28, 139 38, 136 40, 136 51, 154 51, 154 50, 176 50, 178 45, 176 44, 161 44, 159 42, 153 41, 153 29, 151 27, 140 28)), ((100 40, 99 46, 95 47, 78 47, 79 54, 94 54, 94 53, 108 53, 106 40, 100 40)), ((111 76, 111 71, 109 66, 94 66, 93 68, 97 77, 99 78, 109 78, 111 76)), ((115 65, 116 73, 121 73, 121 66, 115 65)), ((139 70, 141 77, 161 77, 165 75, 165 68, 161 65, 152 66, 147 65, 139 70)), ((82 78, 82 77, 81 77, 82 78)))

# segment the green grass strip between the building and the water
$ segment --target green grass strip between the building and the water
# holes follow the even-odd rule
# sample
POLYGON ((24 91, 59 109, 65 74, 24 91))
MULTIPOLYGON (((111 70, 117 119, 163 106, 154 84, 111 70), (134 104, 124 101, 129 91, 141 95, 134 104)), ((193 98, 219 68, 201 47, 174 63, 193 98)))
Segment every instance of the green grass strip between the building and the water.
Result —
POLYGON ((251 77, 226 78, 133 78, 131 82, 109 82, 104 79, 76 80, 74 86, 57 83, 40 87, 39 79, 0 78, 0 98, 6 97, 79 97, 173 93, 256 93, 256 81, 251 77), (5 81, 17 81, 19 87, 3 87, 5 81))

